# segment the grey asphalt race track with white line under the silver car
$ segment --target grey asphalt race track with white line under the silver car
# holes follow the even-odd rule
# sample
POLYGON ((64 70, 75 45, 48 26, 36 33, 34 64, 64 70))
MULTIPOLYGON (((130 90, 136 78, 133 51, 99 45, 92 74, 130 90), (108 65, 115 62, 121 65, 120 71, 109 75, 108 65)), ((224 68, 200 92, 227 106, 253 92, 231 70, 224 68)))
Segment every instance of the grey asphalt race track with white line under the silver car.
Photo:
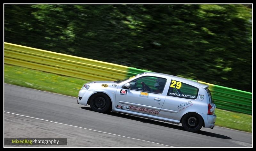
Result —
POLYGON ((181 125, 94 112, 76 101, 4 84, 4 138, 67 138, 61 147, 252 147, 249 132, 215 126, 192 133, 181 125))

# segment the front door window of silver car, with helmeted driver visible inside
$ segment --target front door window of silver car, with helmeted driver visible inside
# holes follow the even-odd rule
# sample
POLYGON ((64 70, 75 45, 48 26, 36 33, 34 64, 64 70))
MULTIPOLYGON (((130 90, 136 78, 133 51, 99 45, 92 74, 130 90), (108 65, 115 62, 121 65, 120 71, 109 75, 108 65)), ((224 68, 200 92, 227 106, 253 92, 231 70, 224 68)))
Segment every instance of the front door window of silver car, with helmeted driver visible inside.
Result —
POLYGON ((160 94, 164 90, 166 81, 164 78, 145 76, 131 81, 130 89, 160 94))

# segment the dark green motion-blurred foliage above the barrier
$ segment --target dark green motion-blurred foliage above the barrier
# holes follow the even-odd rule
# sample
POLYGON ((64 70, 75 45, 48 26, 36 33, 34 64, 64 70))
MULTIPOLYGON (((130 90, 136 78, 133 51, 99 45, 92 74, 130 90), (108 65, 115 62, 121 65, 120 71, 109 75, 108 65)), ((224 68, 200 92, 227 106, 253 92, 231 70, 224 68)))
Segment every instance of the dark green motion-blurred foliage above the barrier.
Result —
POLYGON ((252 92, 252 8, 5 4, 4 42, 252 92))

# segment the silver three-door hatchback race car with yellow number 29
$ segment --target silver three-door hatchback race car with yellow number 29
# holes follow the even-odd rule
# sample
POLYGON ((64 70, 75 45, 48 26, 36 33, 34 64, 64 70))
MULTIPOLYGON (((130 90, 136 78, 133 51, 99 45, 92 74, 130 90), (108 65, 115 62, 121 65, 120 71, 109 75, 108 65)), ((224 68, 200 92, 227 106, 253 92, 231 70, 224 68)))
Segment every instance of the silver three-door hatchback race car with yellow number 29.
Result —
POLYGON ((125 113, 174 124, 189 132, 212 128, 216 120, 208 85, 168 74, 144 72, 124 80, 84 84, 78 104, 93 111, 125 113))

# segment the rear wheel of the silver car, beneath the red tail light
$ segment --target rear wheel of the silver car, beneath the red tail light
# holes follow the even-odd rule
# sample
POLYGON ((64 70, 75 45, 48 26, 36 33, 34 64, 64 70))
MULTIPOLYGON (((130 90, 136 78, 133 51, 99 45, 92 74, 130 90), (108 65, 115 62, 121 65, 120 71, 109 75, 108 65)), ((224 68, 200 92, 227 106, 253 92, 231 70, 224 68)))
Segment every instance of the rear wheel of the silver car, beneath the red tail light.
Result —
POLYGON ((203 118, 197 113, 188 113, 184 115, 181 123, 186 131, 198 132, 203 126, 203 118))

